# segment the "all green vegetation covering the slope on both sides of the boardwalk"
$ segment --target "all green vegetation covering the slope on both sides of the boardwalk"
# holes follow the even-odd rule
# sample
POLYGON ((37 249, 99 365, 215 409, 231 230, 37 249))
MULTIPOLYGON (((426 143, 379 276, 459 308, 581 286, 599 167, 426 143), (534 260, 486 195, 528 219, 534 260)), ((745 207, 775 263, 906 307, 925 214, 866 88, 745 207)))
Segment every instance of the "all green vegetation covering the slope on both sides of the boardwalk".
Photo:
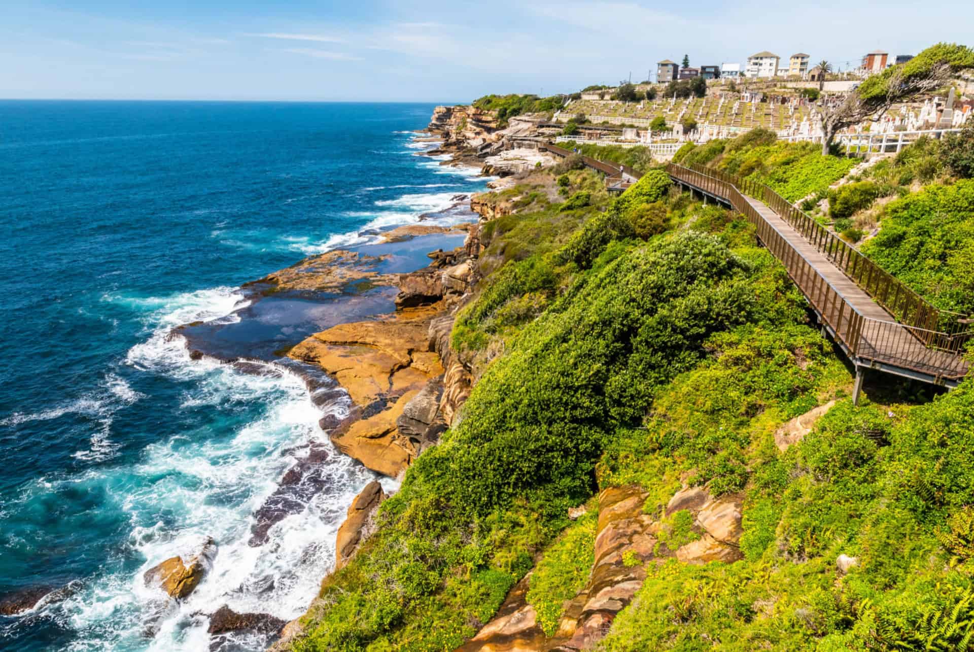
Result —
MULTIPOLYGON (((974 180, 900 184, 953 180, 941 147, 831 194, 853 161, 774 134, 678 156, 791 201, 828 195, 837 220, 904 195, 867 251, 938 305, 974 310, 974 180)), ((689 512, 663 518, 681 486, 742 496, 744 558, 649 563, 601 649, 974 649, 974 381, 926 404, 894 383, 854 407, 843 360, 746 220, 650 167, 613 199, 578 163, 489 199, 517 212, 483 225, 486 278, 452 334, 479 380, 325 580, 295 649, 453 649, 532 567, 527 599, 551 635, 588 578, 594 494, 631 484, 659 519, 659 555, 699 536, 689 512), (829 401, 804 440, 775 445, 829 401), (847 574, 840 555, 857 558, 847 574)))

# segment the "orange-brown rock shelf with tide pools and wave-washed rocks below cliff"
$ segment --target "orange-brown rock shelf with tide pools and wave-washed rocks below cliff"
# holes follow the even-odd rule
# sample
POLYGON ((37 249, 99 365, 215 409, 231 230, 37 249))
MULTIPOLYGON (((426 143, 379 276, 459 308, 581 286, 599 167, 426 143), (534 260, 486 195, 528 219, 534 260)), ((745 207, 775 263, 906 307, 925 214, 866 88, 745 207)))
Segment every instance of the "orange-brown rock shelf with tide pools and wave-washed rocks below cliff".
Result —
MULTIPOLYGON (((440 139, 432 128, 431 134, 440 139)), ((443 146, 425 153, 448 154, 441 165, 476 165, 478 172, 489 172, 483 157, 463 140, 444 138, 443 146)), ((468 196, 454 199, 451 210, 470 201, 468 196)), ((271 527, 304 509, 321 490, 321 470, 336 452, 380 476, 401 479, 457 418, 472 377, 450 349, 449 335, 456 311, 478 278, 483 219, 472 211, 476 206, 470 208, 467 222, 401 225, 368 234, 373 244, 308 256, 244 284, 244 302, 233 319, 186 324, 169 333, 195 360, 232 364, 246 373, 296 374, 321 411, 318 425, 331 445, 312 438, 301 449, 288 451, 296 462, 253 513, 250 546, 267 543, 271 527), (302 326, 291 327, 297 322, 302 326), (284 330, 290 343, 281 337, 284 330)), ((386 495, 373 480, 349 506, 337 534, 335 569, 367 539, 386 495)), ((154 623, 205 579, 216 546, 206 540, 196 556, 173 557, 144 573, 146 586, 169 595, 155 609, 156 617, 146 622, 146 635, 153 635, 154 623)), ((43 595, 23 597, 29 601, 43 595)), ((297 621, 285 624, 267 614, 238 614, 226 605, 201 615, 209 618, 217 647, 221 637, 235 631, 282 633, 287 639, 300 627, 297 621)))

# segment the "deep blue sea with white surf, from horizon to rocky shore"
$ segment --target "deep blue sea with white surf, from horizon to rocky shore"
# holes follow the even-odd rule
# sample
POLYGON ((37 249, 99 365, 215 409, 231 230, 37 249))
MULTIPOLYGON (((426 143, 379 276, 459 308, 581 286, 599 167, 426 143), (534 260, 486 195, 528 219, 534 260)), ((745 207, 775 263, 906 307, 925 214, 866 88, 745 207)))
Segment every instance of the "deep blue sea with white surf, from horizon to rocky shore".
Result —
POLYGON ((332 456, 331 491, 248 547, 318 410, 299 379, 192 362, 166 334, 227 315, 246 281, 482 189, 414 156, 431 109, 0 101, 0 595, 73 583, 0 616, 0 648, 205 650, 197 612, 304 611, 372 475, 332 456), (213 570, 163 606, 142 572, 206 536, 213 570))

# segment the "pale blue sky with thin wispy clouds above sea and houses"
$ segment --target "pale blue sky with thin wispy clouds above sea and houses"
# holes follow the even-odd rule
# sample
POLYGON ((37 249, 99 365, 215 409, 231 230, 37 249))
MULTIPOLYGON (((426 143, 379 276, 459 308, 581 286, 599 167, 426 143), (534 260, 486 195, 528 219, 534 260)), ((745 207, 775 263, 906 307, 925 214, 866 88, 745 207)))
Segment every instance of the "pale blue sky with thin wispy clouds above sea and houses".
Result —
POLYGON ((656 61, 974 45, 974 3, 2 0, 0 98, 470 101, 641 81, 656 61))

